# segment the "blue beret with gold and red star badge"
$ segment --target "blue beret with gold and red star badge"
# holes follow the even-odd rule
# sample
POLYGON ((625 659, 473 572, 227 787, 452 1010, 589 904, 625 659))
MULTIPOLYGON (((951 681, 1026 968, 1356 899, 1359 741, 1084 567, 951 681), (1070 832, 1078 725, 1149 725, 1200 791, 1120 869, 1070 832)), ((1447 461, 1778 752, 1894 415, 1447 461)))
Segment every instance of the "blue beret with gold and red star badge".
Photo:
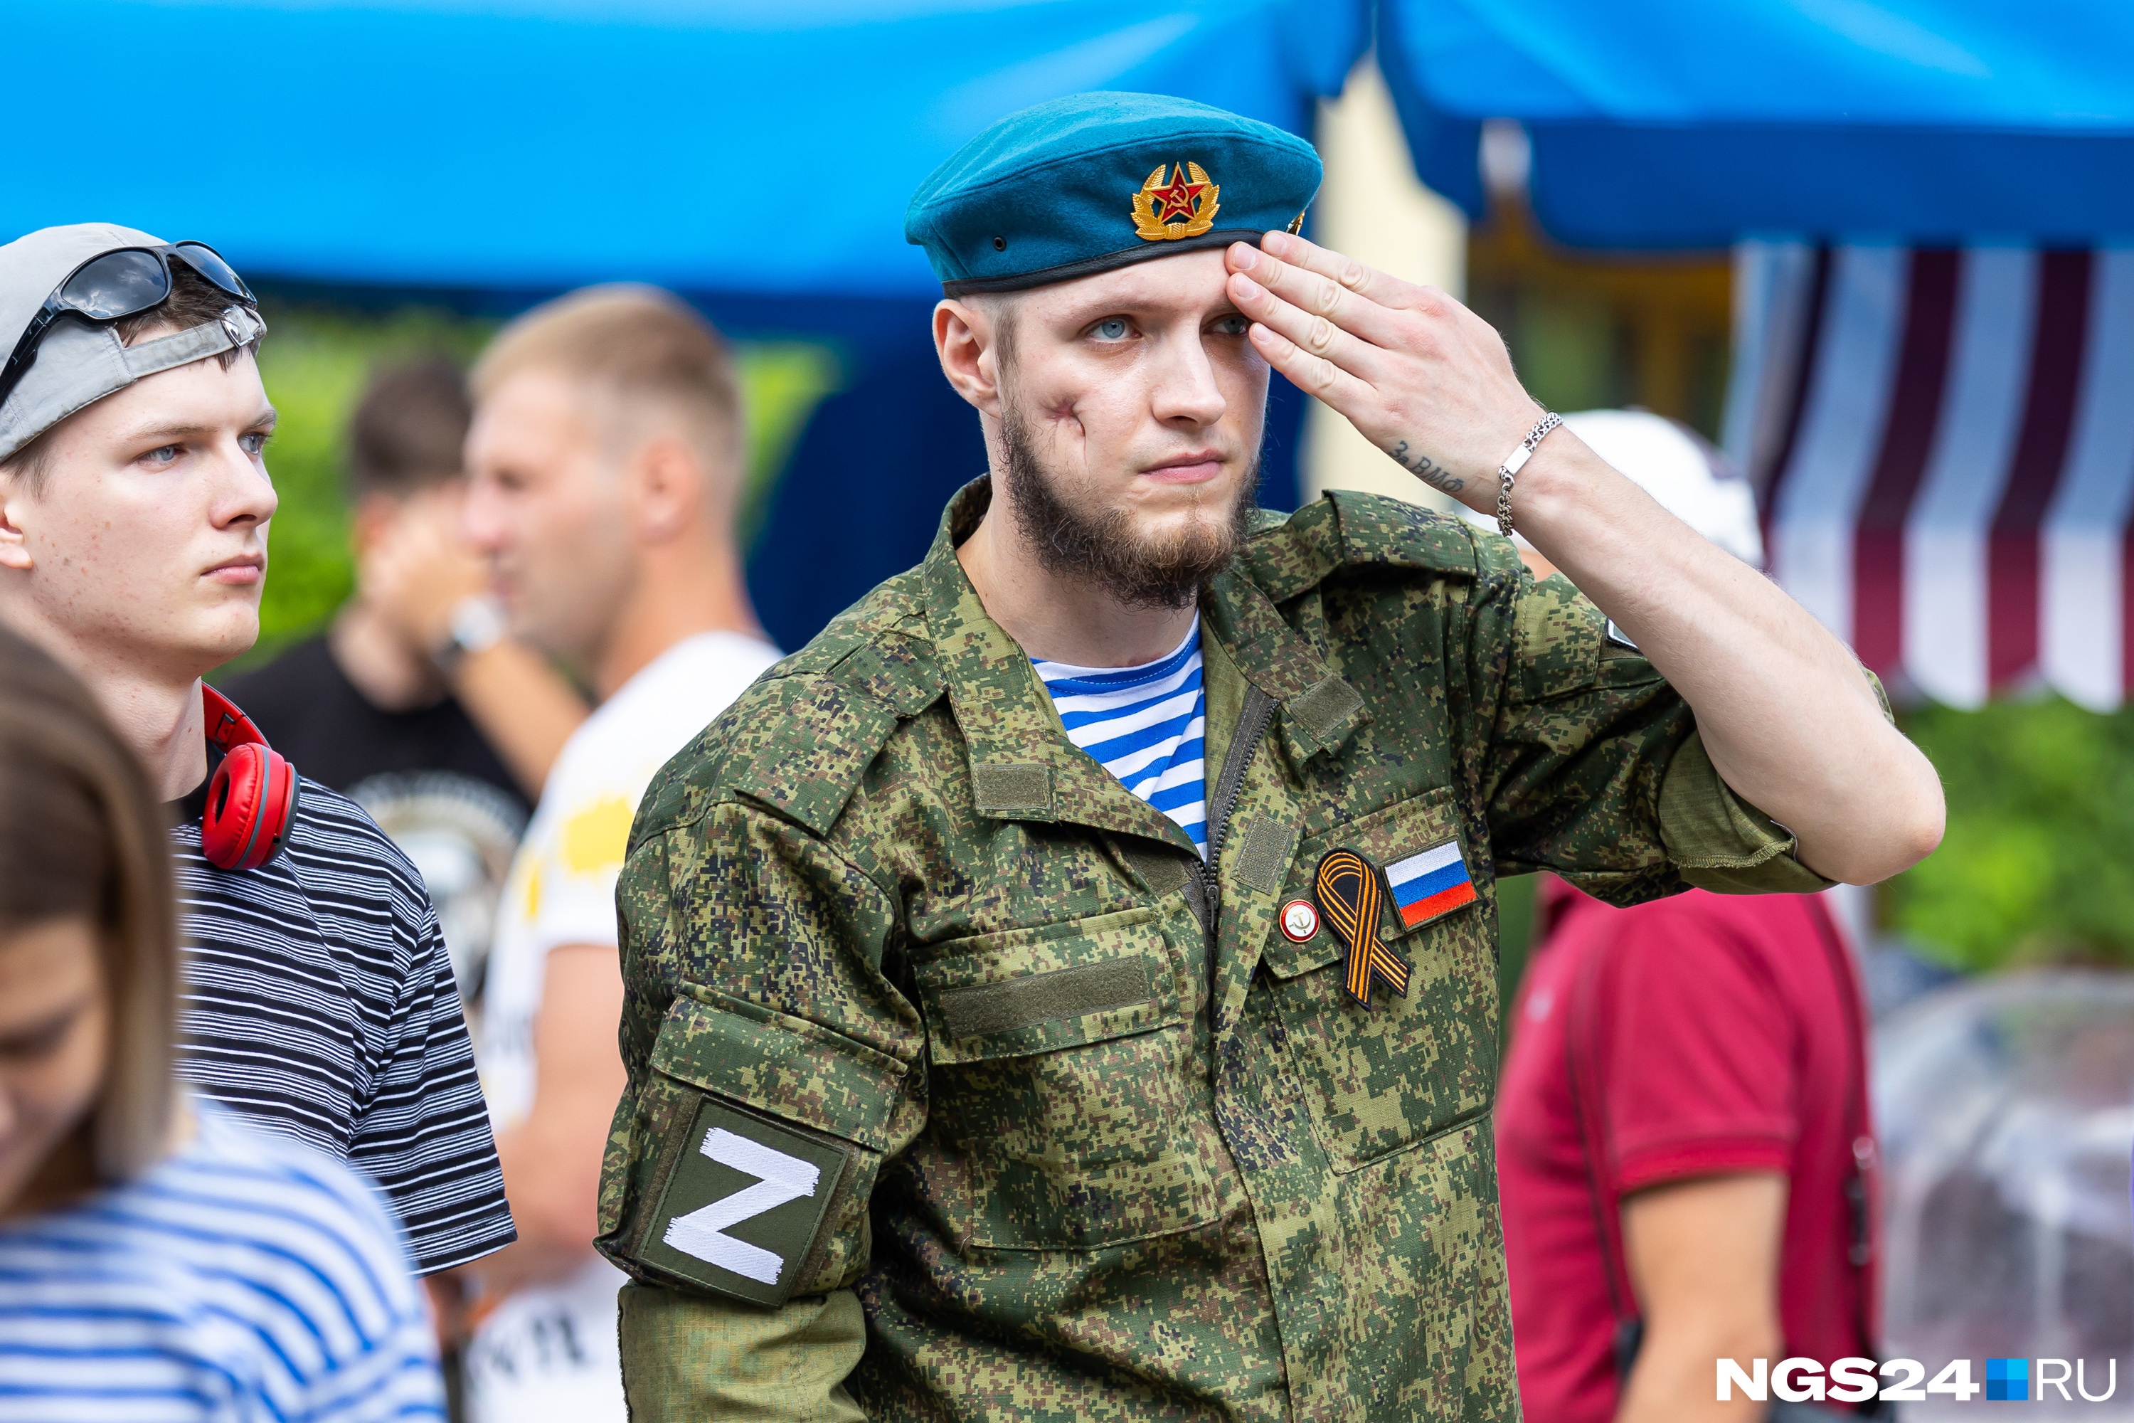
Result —
POLYGON ((1071 94, 965 143, 911 194, 905 241, 950 297, 1016 292, 1304 222, 1319 154, 1161 94, 1071 94))

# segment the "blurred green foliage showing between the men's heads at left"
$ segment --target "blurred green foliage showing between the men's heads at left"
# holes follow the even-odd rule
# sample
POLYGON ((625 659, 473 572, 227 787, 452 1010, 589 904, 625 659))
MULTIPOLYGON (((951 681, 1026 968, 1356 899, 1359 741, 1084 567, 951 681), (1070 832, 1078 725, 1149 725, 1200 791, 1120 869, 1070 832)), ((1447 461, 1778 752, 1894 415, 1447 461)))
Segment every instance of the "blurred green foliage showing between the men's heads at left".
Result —
MULTIPOLYGON (((282 414, 267 467, 282 497, 269 533, 260 642, 252 666, 318 629, 354 589, 341 444, 371 369, 446 354, 474 358, 497 322, 433 307, 386 314, 324 305, 267 305, 260 380, 282 414)), ((734 367, 747 412, 743 548, 753 540, 815 405, 843 382, 839 358, 807 341, 736 341, 734 367)))

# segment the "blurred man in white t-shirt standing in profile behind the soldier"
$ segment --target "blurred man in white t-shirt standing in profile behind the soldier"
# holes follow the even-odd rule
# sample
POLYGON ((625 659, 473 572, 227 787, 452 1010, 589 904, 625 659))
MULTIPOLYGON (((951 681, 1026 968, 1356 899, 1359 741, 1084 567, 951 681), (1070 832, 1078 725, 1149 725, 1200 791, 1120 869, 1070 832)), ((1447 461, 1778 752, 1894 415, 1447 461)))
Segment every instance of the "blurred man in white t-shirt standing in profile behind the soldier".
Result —
POLYGON ((497 911, 478 1060, 519 1242, 469 1272, 474 1423, 625 1417, 621 1272, 593 1254, 623 1090, 615 879, 638 798, 777 661, 734 546, 740 412, 719 335, 674 297, 591 288, 476 363, 465 533, 512 631, 600 700, 566 742, 497 911))

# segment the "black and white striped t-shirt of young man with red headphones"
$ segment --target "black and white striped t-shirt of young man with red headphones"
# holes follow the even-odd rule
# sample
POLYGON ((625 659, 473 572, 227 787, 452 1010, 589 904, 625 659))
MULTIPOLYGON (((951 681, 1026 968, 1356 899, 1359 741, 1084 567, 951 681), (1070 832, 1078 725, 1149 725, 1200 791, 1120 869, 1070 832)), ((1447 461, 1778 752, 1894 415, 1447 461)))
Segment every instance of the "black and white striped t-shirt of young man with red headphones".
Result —
POLYGON ((512 1242, 474 1050, 423 879, 354 802, 303 783, 288 849, 201 856, 171 832, 186 930, 179 1071, 239 1116, 365 1171, 423 1274, 512 1242))

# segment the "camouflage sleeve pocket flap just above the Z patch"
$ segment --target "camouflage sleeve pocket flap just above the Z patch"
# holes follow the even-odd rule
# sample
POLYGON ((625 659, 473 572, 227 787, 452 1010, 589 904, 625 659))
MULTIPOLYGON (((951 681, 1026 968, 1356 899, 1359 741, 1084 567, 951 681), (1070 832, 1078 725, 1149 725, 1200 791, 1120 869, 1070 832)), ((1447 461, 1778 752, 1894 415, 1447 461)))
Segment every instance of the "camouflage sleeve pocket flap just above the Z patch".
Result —
POLYGON ((886 1052, 758 1003, 694 988, 674 998, 651 1067, 676 1082, 881 1152, 905 1067, 886 1052))

